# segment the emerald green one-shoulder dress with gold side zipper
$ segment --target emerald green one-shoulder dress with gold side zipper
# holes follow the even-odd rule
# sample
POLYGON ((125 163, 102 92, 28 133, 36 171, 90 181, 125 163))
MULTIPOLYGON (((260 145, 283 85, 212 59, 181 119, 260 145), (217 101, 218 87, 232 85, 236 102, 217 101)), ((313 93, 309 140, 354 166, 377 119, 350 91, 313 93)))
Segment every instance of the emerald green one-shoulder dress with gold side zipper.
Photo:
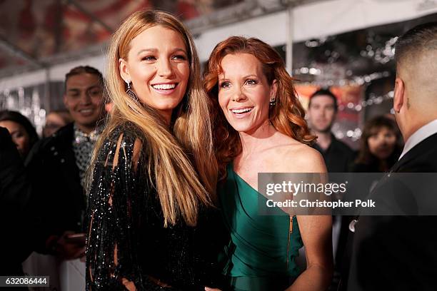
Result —
POLYGON ((223 220, 231 234, 225 250, 224 274, 236 291, 285 290, 299 275, 295 262, 303 246, 296 216, 280 208, 277 215, 259 215, 258 199, 266 198, 227 167, 218 186, 223 220))

